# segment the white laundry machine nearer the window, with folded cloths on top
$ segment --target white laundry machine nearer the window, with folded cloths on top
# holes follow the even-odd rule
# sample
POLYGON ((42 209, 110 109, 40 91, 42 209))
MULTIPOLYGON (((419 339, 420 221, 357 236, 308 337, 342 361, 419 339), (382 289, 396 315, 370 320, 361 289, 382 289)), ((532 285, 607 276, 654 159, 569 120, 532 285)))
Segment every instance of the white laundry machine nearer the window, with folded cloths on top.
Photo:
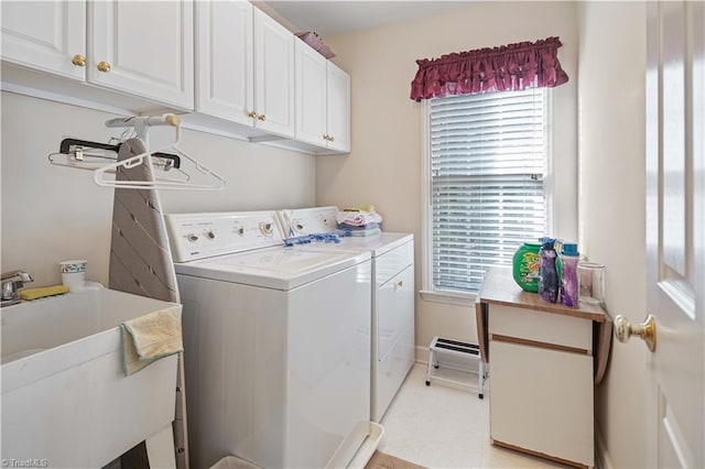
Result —
MULTIPOLYGON (((289 237, 337 231, 337 207, 278 212, 289 237)), ((299 250, 356 250, 372 257, 372 345, 370 418, 381 421, 415 358, 414 239, 410 233, 382 232, 373 237, 341 237, 294 243, 299 250)))

